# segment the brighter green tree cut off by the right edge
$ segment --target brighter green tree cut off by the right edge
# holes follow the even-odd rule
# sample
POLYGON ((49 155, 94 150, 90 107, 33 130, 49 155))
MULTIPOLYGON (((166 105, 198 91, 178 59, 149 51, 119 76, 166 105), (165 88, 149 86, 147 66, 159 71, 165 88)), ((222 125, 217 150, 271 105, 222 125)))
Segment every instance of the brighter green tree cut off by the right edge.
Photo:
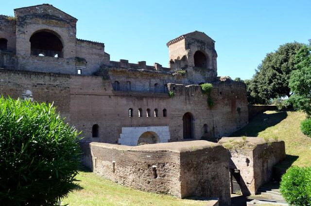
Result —
POLYGON ((289 98, 294 109, 305 111, 311 117, 311 41, 302 47, 295 57, 295 68, 291 73, 289 87, 293 95, 289 98))

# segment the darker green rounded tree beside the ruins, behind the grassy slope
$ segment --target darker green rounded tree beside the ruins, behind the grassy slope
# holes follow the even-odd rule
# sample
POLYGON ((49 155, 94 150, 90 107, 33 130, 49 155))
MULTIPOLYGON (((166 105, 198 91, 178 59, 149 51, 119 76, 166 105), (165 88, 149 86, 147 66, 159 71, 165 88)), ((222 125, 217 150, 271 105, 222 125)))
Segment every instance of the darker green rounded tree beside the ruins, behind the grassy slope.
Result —
POLYGON ((295 55, 303 46, 297 42, 287 43, 266 55, 248 84, 255 100, 267 103, 272 98, 292 95, 289 79, 295 69, 295 55))

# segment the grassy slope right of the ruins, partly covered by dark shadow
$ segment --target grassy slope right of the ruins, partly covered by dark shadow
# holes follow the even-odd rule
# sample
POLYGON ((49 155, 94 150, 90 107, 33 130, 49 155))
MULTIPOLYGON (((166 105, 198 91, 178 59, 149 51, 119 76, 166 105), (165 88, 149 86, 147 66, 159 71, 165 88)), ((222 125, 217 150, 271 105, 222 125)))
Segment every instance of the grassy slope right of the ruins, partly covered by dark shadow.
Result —
POLYGON ((286 158, 279 165, 311 166, 311 138, 300 131, 305 114, 299 111, 266 111, 256 116, 240 131, 231 136, 274 137, 284 140, 286 158))

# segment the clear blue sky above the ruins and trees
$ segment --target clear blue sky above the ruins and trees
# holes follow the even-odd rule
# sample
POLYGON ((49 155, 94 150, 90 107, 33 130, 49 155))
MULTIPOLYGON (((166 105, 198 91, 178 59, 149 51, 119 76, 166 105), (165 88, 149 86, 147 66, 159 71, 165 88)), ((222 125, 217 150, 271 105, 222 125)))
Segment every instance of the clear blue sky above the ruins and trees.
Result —
POLYGON ((266 53, 311 39, 311 0, 11 0, 14 8, 50 3, 78 19, 77 37, 103 42, 110 59, 168 66, 166 43, 205 32, 216 41, 218 76, 249 79, 266 53))

